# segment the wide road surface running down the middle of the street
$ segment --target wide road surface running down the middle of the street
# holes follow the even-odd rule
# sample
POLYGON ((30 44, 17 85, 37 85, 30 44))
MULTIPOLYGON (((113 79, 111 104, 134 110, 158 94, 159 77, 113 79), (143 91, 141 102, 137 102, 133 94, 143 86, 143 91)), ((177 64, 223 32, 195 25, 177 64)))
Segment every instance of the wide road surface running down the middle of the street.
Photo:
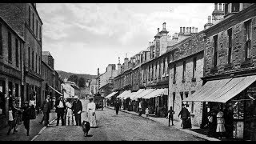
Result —
POLYGON ((83 136, 81 126, 52 126, 43 130, 34 141, 205 141, 134 114, 120 111, 116 115, 108 108, 97 110, 96 116, 98 128, 90 130, 91 137, 83 136))

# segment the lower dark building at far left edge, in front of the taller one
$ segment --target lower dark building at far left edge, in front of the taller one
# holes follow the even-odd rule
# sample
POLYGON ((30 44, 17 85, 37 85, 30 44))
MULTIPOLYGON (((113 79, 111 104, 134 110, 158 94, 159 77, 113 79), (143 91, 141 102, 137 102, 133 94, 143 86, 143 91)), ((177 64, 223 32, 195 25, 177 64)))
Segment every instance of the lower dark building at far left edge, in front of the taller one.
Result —
MULTIPOLYGON (((0 15, 0 128, 8 124, 12 100, 20 107, 22 100, 24 38, 0 15)), ((24 90, 24 89, 23 89, 24 90)))

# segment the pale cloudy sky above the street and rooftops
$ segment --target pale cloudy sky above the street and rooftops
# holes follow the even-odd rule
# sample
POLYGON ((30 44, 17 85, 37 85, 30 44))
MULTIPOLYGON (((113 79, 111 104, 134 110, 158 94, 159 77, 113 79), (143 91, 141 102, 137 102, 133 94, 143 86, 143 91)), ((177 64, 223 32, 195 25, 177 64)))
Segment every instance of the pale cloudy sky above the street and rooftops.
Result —
POLYGON ((38 3, 37 10, 54 69, 96 75, 146 50, 163 22, 170 35, 180 26, 203 30, 214 3, 38 3))

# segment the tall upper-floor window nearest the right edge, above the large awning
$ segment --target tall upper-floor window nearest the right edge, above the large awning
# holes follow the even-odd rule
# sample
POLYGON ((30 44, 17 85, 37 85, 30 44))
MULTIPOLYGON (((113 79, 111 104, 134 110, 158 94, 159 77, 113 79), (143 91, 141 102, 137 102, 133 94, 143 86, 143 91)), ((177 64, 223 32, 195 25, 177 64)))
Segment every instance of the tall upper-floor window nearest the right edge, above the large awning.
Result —
POLYGON ((250 59, 250 47, 251 47, 251 20, 245 22, 246 27, 246 47, 245 47, 245 60, 250 59))

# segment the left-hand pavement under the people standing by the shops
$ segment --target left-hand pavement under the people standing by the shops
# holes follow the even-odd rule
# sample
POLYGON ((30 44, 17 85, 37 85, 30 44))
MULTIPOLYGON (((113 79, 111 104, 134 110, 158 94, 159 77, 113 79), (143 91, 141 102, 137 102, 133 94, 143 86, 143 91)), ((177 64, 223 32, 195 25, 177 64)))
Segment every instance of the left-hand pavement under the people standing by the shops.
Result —
MULTIPOLYGON (((30 141, 35 136, 40 134, 42 130, 46 129, 46 126, 40 124, 39 122, 42 120, 43 114, 38 114, 37 118, 30 120, 30 136, 26 136, 26 129, 23 125, 23 122, 18 125, 17 130, 18 132, 13 134, 13 130, 11 131, 10 135, 7 135, 7 131, 9 126, 0 129, 0 141, 30 141)), ((49 122, 50 124, 54 122, 57 118, 57 114, 55 110, 51 110, 49 122)))

